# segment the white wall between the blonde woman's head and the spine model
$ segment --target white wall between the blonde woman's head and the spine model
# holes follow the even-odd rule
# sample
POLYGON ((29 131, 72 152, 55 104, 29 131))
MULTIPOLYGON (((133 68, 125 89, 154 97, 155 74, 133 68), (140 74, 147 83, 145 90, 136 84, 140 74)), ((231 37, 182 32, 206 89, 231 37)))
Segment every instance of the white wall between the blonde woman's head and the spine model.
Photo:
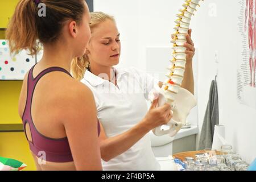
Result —
POLYGON ((182 3, 165 5, 170 5, 170 1, 94 0, 94 11, 104 11, 117 20, 122 43, 121 67, 145 70, 147 46, 170 46, 170 30, 174 27, 174 18, 170 17, 182 3))

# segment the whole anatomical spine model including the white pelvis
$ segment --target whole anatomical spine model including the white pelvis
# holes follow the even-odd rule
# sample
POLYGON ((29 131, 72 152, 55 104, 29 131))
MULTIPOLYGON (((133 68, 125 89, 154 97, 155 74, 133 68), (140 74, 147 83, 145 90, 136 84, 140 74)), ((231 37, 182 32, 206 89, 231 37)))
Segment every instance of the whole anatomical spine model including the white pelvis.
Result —
POLYGON ((157 136, 169 134, 170 137, 174 137, 177 132, 186 123, 187 116, 191 109, 196 106, 196 100, 192 93, 188 90, 181 88, 183 76, 185 72, 186 47, 184 44, 187 42, 186 35, 188 34, 189 24, 192 16, 196 11, 196 7, 200 6, 199 1, 204 0, 186 0, 183 4, 184 9, 179 10, 177 14, 178 19, 175 21, 176 30, 173 43, 173 53, 171 59, 171 65, 168 67, 170 71, 166 76, 168 79, 163 83, 163 86, 159 92, 158 106, 168 103, 172 107, 172 119, 168 123, 167 130, 162 129, 162 126, 153 129, 153 133, 157 136))

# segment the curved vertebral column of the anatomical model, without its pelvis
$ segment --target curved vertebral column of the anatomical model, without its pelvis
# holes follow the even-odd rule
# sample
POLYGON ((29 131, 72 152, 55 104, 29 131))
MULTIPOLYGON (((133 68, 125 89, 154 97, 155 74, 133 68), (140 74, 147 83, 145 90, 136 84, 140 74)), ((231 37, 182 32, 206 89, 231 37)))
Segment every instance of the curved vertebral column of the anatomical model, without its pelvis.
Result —
POLYGON ((168 104, 175 101, 176 94, 179 92, 183 81, 187 57, 185 53, 187 48, 184 47, 184 43, 187 42, 186 35, 188 34, 191 18, 196 11, 196 7, 200 6, 199 1, 204 0, 186 0, 183 4, 184 9, 180 9, 180 13, 177 14, 178 19, 175 21, 176 27, 174 28, 176 32, 171 41, 173 52, 170 60, 171 65, 168 67, 170 72, 166 75, 168 79, 163 83, 160 90, 168 104))

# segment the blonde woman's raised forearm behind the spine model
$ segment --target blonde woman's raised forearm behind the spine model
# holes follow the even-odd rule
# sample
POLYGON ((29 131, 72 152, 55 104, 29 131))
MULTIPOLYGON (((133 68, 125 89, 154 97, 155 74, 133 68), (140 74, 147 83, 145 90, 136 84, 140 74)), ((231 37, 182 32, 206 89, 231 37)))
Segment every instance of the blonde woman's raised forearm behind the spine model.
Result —
POLYGON ((194 94, 194 76, 192 63, 186 64, 183 81, 181 87, 187 89, 189 92, 194 94))

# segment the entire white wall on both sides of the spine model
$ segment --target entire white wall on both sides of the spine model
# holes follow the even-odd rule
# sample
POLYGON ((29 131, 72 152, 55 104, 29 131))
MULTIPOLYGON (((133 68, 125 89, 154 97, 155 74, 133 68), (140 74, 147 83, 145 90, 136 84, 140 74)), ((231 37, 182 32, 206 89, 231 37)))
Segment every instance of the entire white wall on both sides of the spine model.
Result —
MULTIPOLYGON (((226 140, 243 159, 256 158, 256 109, 236 100, 237 16, 239 0, 207 0, 191 22, 192 39, 198 48, 198 123, 201 129, 209 96, 209 86, 218 68, 220 124, 226 126, 226 140), (216 7, 216 15, 214 15, 216 7), (214 54, 218 52, 215 63, 214 54)), ((121 32, 120 67, 136 66, 146 70, 146 47, 171 47, 175 14, 183 1, 175 0, 94 0, 94 10, 115 16, 121 32)))

